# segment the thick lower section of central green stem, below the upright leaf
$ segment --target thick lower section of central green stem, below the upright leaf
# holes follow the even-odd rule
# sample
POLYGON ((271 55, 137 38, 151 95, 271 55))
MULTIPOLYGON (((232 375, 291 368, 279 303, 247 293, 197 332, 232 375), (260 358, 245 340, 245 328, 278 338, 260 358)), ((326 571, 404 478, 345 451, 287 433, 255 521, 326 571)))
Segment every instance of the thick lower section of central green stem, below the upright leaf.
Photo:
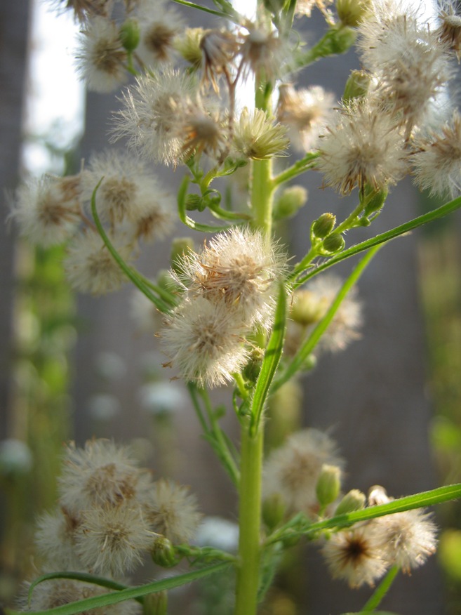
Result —
POLYGON ((263 435, 261 425, 252 436, 249 421, 243 423, 235 615, 255 615, 258 608, 263 435))

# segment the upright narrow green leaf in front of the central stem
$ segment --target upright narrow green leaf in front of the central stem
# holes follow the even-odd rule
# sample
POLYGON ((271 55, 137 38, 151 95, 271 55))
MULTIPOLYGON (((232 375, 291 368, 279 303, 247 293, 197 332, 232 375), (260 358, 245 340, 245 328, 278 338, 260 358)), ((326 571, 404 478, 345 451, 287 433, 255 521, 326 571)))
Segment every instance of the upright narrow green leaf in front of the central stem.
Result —
POLYGON ((279 300, 277 302, 274 328, 272 329, 269 343, 265 351, 262 366, 255 385, 255 392, 251 403, 251 427, 250 432, 256 433, 264 409, 264 404, 269 393, 270 385, 274 379, 276 369, 279 366, 283 351, 286 326, 286 290, 283 283, 280 284, 279 300))

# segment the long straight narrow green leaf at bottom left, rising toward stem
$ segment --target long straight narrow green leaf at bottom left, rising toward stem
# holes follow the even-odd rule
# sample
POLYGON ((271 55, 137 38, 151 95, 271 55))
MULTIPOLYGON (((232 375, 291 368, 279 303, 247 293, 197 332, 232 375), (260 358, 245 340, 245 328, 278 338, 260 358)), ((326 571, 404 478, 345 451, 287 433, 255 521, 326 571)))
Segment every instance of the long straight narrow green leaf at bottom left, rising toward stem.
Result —
MULTIPOLYGON (((220 564, 213 564, 200 570, 194 570, 193 572, 187 572, 186 574, 180 574, 173 576, 172 578, 165 578, 162 581, 154 581, 153 583, 147 583, 138 587, 124 589, 114 593, 107 593, 101 596, 94 596, 91 598, 85 598, 78 602, 70 602, 69 604, 62 604, 60 607, 48 609, 47 611, 28 611, 31 615, 74 615, 76 613, 82 613, 88 609, 96 609, 98 607, 107 607, 109 604, 117 604, 118 602, 124 602, 125 600, 135 600, 138 597, 160 592, 164 590, 170 590, 175 587, 192 583, 192 581, 198 581, 199 578, 214 574, 227 569, 231 564, 223 562, 220 564)), ((14 611, 13 609, 5 609, 6 615, 19 615, 20 611, 14 611)))

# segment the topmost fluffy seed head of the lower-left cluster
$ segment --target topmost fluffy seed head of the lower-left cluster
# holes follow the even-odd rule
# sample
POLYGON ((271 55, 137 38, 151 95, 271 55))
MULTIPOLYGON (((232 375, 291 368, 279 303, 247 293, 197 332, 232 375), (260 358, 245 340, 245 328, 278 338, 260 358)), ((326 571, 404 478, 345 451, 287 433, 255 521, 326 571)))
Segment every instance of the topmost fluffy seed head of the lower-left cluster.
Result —
POLYGON ((67 447, 59 490, 69 515, 143 501, 149 487, 149 475, 137 467, 128 447, 104 439, 88 440, 83 449, 67 447))

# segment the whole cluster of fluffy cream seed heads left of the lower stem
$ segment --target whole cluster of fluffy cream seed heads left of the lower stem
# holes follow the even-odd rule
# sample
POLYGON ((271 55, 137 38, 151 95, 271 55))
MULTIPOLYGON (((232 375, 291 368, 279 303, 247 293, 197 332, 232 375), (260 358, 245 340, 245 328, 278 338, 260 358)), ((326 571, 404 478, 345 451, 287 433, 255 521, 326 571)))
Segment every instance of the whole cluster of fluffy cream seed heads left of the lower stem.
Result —
MULTIPOLYGON (((201 521, 187 487, 170 480, 154 482, 129 447, 109 440, 93 439, 83 449, 69 444, 58 493, 57 508, 42 515, 36 533, 45 571, 123 578, 155 549, 156 541, 185 543, 201 521)), ((85 591, 86 586, 74 581, 48 583, 34 604, 51 608, 78 600, 85 591)))

